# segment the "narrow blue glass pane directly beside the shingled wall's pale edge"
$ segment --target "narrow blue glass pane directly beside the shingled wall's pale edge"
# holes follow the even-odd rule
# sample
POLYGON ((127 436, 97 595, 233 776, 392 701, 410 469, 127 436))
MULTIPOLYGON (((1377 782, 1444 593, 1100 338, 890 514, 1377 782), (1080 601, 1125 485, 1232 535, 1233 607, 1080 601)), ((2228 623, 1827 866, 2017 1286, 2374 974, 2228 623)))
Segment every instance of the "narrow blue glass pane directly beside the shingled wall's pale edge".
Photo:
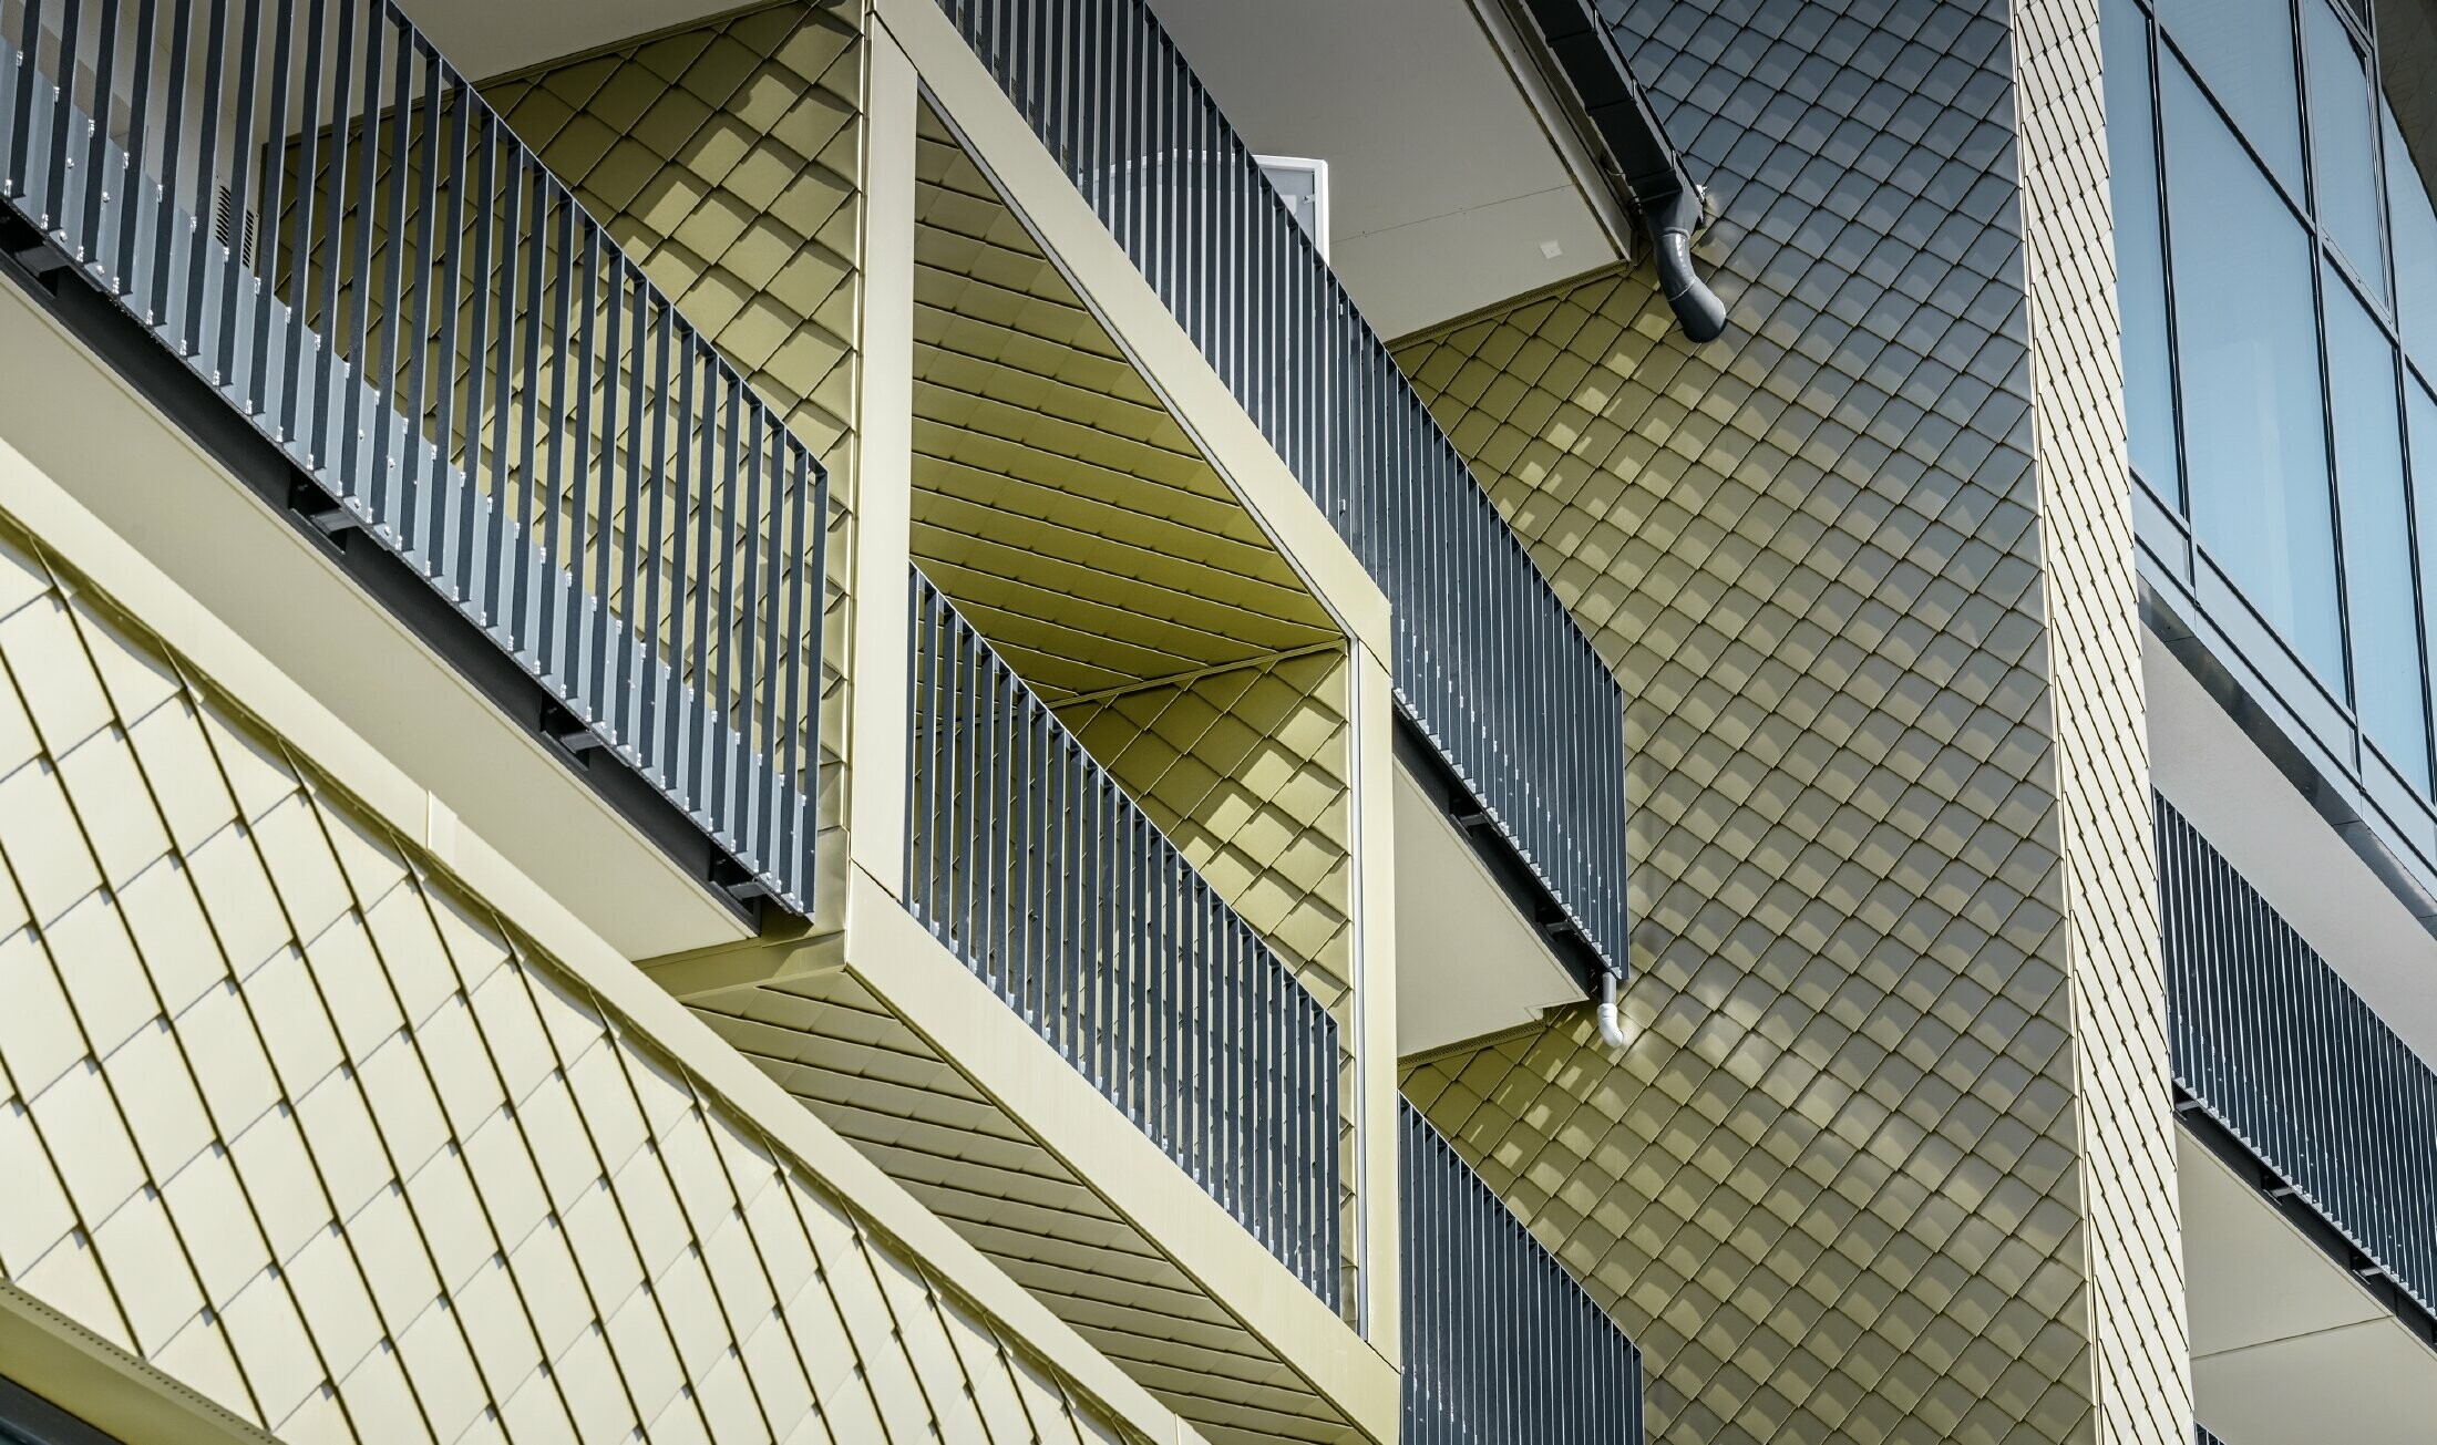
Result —
POLYGON ((2132 470, 2184 507, 2174 465, 2174 378, 2166 370, 2166 263, 2157 234, 2157 127, 2149 119, 2149 22, 2132 0, 2098 15, 2108 85, 2108 185, 2115 195, 2115 305, 2123 314, 2125 424, 2132 470))

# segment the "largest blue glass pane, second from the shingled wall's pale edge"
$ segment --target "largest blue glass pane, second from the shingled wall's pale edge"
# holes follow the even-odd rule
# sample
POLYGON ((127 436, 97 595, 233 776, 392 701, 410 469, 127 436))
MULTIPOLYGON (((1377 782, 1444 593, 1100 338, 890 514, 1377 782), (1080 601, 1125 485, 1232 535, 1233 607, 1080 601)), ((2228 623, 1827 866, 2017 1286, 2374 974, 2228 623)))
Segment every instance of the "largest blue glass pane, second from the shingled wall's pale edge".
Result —
POLYGON ((2342 690, 2315 246, 2191 76, 2166 66, 2164 83, 2191 526, 2252 607, 2342 690))

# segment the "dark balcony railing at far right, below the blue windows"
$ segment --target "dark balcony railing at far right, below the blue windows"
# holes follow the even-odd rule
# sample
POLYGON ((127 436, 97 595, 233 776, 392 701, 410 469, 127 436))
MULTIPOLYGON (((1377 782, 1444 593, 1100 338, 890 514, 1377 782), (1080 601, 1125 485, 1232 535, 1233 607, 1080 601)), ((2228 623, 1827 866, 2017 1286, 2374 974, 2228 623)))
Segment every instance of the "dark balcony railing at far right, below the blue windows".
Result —
POLYGON ((2437 1072, 2159 797, 2174 1082, 2437 1313, 2437 1072))

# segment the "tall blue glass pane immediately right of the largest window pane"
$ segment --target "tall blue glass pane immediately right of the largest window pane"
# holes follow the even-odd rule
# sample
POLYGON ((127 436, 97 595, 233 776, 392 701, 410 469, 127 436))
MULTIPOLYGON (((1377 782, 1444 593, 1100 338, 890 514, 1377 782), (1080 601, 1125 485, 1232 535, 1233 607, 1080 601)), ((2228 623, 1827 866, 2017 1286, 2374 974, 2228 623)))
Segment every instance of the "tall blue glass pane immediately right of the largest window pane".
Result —
POLYGON ((2335 497, 2344 524, 2344 621, 2361 729, 2405 777, 2430 787, 2420 712, 2420 595, 2403 509, 2403 422, 2396 348, 2335 273, 2327 297, 2327 400, 2335 497))

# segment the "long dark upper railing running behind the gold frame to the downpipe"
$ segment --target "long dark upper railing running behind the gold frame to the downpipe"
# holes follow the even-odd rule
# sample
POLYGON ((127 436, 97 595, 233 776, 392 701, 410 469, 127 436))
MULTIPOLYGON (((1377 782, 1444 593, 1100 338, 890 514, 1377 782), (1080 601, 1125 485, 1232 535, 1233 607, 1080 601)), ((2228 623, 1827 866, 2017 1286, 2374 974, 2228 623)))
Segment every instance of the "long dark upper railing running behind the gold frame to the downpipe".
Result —
POLYGON ((941 0, 1394 607, 1396 702, 1625 965, 1616 675, 1143 0, 941 0))

